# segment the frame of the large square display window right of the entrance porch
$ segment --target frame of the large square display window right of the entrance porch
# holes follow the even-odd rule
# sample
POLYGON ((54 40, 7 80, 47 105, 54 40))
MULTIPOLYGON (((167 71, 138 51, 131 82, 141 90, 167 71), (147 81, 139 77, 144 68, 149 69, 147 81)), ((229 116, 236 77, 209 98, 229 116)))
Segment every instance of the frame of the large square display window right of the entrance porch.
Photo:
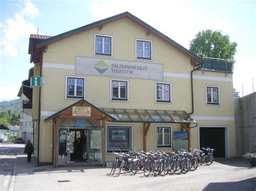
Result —
POLYGON ((127 150, 109 150, 109 128, 116 128, 116 129, 130 129, 130 150, 133 149, 133 126, 132 125, 106 125, 106 154, 112 154, 112 152, 125 152, 127 150))

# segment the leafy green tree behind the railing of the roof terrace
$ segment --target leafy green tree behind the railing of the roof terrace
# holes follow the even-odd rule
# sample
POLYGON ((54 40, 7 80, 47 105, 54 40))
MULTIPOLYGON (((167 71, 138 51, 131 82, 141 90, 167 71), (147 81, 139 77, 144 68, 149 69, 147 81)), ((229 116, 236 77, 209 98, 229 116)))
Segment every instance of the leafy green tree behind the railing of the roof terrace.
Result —
POLYGON ((221 34, 221 31, 205 30, 198 32, 190 41, 190 51, 201 58, 234 60, 237 43, 231 43, 230 36, 221 34))

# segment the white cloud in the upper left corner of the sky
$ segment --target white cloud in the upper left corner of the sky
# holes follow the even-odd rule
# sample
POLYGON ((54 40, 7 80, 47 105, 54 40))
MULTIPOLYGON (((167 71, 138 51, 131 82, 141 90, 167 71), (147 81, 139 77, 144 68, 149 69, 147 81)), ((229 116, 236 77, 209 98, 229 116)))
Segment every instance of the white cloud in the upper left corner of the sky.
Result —
POLYGON ((25 1, 24 9, 17 12, 14 18, 5 19, 4 23, 0 23, 3 36, 0 40, 0 55, 16 56, 18 47, 23 38, 28 38, 31 33, 36 33, 37 27, 28 19, 33 19, 39 15, 32 2, 25 1))

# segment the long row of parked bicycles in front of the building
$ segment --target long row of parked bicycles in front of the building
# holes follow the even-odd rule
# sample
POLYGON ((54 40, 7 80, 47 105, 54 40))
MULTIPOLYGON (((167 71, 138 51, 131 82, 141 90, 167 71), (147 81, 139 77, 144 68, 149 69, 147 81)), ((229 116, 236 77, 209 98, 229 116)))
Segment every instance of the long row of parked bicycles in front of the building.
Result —
POLYGON ((114 175, 117 171, 119 176, 121 171, 137 174, 142 171, 145 176, 165 176, 166 174, 186 174, 188 171, 195 171, 200 165, 211 165, 213 160, 213 149, 204 148, 197 150, 192 148, 191 152, 180 150, 177 152, 163 151, 129 151, 113 152, 116 155, 112 163, 109 175, 114 175))

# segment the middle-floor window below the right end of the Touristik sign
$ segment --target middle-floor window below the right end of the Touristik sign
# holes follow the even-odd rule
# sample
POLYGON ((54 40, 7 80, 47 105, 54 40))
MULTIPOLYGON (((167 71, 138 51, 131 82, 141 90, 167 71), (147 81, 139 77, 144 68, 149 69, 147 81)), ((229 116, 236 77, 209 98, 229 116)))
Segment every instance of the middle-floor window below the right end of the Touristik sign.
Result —
POLYGON ((156 82, 156 102, 163 103, 172 103, 172 84, 171 83, 163 83, 156 82))

